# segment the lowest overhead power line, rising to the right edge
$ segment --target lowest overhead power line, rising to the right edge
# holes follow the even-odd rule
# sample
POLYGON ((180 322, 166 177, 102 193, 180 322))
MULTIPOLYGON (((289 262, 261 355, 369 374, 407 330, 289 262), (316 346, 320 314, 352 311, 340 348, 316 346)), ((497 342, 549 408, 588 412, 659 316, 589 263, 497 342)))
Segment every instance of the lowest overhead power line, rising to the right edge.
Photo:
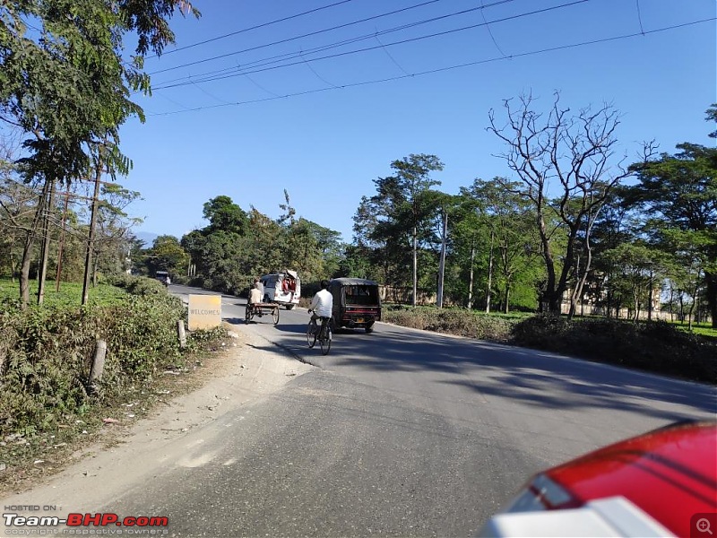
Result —
POLYGON ((684 23, 682 23, 682 24, 675 24, 675 25, 672 25, 672 26, 666 26, 666 27, 658 28, 658 29, 654 29, 654 30, 646 30, 646 31, 644 31, 644 32, 640 31, 640 32, 631 33, 631 34, 624 34, 624 35, 621 35, 621 36, 613 36, 613 37, 611 37, 611 38, 592 39, 592 40, 590 40, 590 41, 582 41, 582 42, 579 42, 579 43, 572 43, 572 44, 568 44, 568 45, 560 45, 560 46, 558 46, 558 47, 542 48, 542 49, 540 49, 540 50, 532 50, 532 51, 528 51, 528 52, 523 52, 523 53, 518 53, 518 54, 510 55, 510 56, 498 56, 498 57, 494 57, 494 58, 488 58, 488 59, 485 59, 485 60, 478 60, 478 61, 475 61, 475 62, 467 62, 467 63, 463 63, 463 64, 458 64, 458 65, 449 65, 449 66, 446 66, 446 67, 439 67, 439 68, 436 68, 436 69, 430 69, 430 70, 428 70, 428 71, 422 71, 422 72, 417 72, 417 73, 413 73, 413 74, 403 74, 403 75, 401 75, 401 76, 387 77, 387 78, 384 78, 384 79, 376 79, 376 80, 372 80, 372 81, 353 82, 353 83, 350 83, 350 84, 342 84, 342 85, 340 85, 340 86, 335 86, 335 87, 330 87, 330 88, 318 88, 318 89, 316 89, 316 90, 298 91, 298 92, 295 92, 295 93, 288 93, 288 94, 281 95, 281 96, 278 96, 278 97, 263 98, 263 99, 256 99, 256 100, 237 101, 237 102, 234 102, 234 103, 230 103, 230 104, 228 104, 228 105, 212 105, 212 106, 207 106, 207 107, 187 108, 186 110, 175 110, 175 111, 172 111, 172 112, 150 113, 150 114, 148 114, 147 116, 172 116, 172 115, 176 115, 176 114, 182 114, 182 113, 184 113, 184 112, 196 112, 196 111, 199 111, 199 110, 209 110, 209 109, 212 109, 212 108, 223 108, 223 107, 228 107, 228 106, 238 107, 238 106, 241 106, 241 105, 249 105, 249 104, 254 104, 254 103, 261 103, 261 102, 270 101, 270 100, 289 99, 289 98, 291 98, 291 97, 299 97, 299 96, 303 96, 303 95, 309 95, 309 94, 312 94, 312 93, 320 93, 320 92, 323 92, 323 91, 342 90, 342 89, 344 89, 344 88, 355 88, 355 87, 358 87, 358 86, 367 86, 367 85, 370 85, 370 84, 378 84, 378 83, 383 83, 383 82, 399 81, 399 80, 402 80, 402 79, 412 78, 412 77, 417 77, 417 76, 424 76, 424 75, 427 75, 427 74, 444 73, 444 72, 447 72, 447 71, 452 71, 452 70, 454 70, 454 69, 461 69, 461 68, 463 68, 463 67, 470 67, 470 66, 473 66, 473 65, 489 64, 489 63, 493 63, 493 62, 499 62, 499 61, 503 61, 503 60, 511 60, 511 59, 514 59, 514 58, 527 57, 527 56, 537 56, 537 55, 540 55, 540 54, 546 54, 546 53, 550 53, 550 52, 556 52, 556 51, 558 51, 558 50, 566 50, 566 49, 569 49, 569 48, 580 48, 580 47, 586 47, 586 46, 589 46, 589 45, 597 45, 597 44, 600 44, 600 43, 607 43, 607 42, 609 42, 609 41, 617 41, 617 40, 620 40, 620 39, 630 39, 630 38, 635 38, 635 37, 641 37, 641 36, 648 35, 648 34, 652 34, 652 33, 659 33, 659 32, 668 31, 668 30, 677 30, 677 29, 679 29, 679 28, 686 28, 686 27, 688 27, 688 26, 694 26, 695 24, 702 24, 702 23, 704 23, 704 22, 714 22, 714 21, 717 21, 717 17, 710 17, 710 18, 708 18, 708 19, 701 19, 701 20, 699 20, 699 21, 693 21, 693 22, 684 22, 684 23))

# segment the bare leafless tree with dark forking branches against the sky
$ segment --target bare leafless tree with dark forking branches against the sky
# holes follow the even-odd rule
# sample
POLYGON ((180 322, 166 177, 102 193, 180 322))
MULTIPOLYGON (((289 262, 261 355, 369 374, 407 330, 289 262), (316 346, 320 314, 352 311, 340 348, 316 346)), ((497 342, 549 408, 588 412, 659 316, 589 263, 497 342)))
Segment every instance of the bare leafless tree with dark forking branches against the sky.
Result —
POLYGON ((520 179, 514 192, 529 200, 535 212, 548 274, 540 298, 542 310, 560 313, 574 274, 575 250, 582 243, 583 264, 572 282, 572 316, 592 262, 592 225, 611 189, 630 172, 622 166, 625 157, 612 164, 617 110, 603 104, 595 111, 588 107, 570 115, 570 108, 560 108, 559 100, 556 91, 547 117, 531 109, 530 94, 521 96, 517 107, 505 100, 507 123, 497 126, 491 110, 488 131, 507 145, 508 150, 499 156, 520 179), (557 234, 562 236, 560 241, 557 234))

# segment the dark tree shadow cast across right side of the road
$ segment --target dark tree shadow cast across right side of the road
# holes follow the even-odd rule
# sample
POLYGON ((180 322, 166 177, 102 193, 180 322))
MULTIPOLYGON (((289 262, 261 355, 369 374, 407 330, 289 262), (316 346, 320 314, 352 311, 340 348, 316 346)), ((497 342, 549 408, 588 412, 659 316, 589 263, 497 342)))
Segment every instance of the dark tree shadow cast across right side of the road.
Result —
MULTIPOLYGON (((299 327, 301 333, 306 331, 306 325, 282 326, 285 336, 280 345, 296 346, 298 341, 291 334, 298 333, 299 327)), ((695 412, 717 412, 717 390, 713 386, 547 351, 406 331, 390 325, 372 334, 357 330, 336 334, 333 344, 331 363, 335 367, 430 371, 443 374, 436 383, 462 386, 484 396, 509 395, 550 409, 613 409, 667 421, 685 419, 695 412), (684 409, 669 410, 665 404, 684 409)))

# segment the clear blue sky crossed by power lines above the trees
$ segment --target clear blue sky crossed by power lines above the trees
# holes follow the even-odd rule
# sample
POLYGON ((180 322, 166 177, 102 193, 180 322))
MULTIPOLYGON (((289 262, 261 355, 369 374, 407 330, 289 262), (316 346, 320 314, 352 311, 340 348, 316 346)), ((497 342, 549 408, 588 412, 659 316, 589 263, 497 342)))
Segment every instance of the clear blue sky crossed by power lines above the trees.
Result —
POLYGON ((174 19, 176 45, 147 60, 146 123, 121 130, 137 232, 202 228, 218 195, 276 218, 286 189, 298 215, 350 242, 361 196, 410 153, 445 163, 433 178, 450 194, 511 177, 488 112, 505 118, 503 100, 529 91, 546 111, 554 91, 574 110, 611 103, 629 162, 645 140, 714 144, 714 0, 194 4, 203 16, 174 19))

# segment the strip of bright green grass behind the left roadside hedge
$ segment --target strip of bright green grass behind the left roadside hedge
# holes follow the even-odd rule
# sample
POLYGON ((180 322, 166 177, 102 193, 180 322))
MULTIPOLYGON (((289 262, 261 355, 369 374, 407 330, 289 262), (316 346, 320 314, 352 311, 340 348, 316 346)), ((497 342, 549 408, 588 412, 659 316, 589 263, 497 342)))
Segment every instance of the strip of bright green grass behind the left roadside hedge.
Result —
MULTIPOLYGON (((90 288, 89 303, 91 305, 110 305, 127 296, 127 292, 109 284, 98 284, 90 288)), ((5 299, 20 299, 20 282, 12 282, 9 278, 0 278, 0 302, 5 299)), ((38 302, 38 281, 30 281, 30 304, 38 302)), ((48 306, 80 306, 82 303, 81 282, 60 282, 60 291, 56 291, 56 282, 48 281, 45 287, 44 304, 48 306)))

